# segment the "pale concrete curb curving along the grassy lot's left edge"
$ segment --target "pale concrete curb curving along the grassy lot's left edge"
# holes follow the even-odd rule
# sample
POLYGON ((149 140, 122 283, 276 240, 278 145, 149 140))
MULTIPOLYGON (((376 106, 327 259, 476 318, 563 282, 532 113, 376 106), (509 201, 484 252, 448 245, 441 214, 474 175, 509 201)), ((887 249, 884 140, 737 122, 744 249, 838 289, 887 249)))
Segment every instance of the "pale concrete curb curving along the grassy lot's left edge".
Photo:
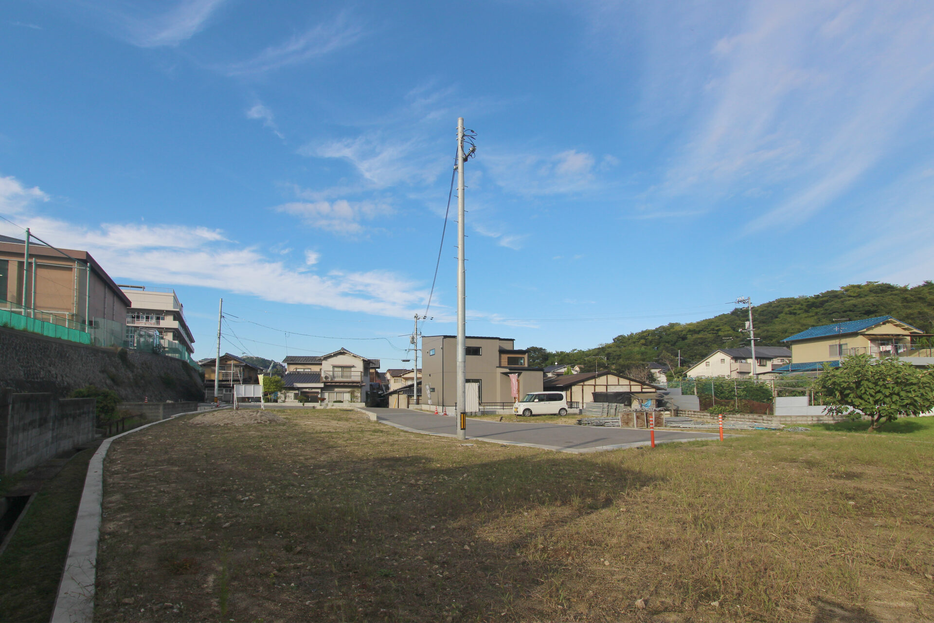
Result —
POLYGON ((94 616, 94 577, 97 570, 97 542, 101 533, 101 503, 104 500, 104 459, 110 444, 123 435, 148 429, 171 419, 204 413, 189 411, 170 418, 149 422, 132 431, 107 437, 88 463, 84 478, 84 491, 78 504, 78 517, 71 532, 68 558, 64 562, 58 597, 52 611, 51 623, 91 623, 94 616))

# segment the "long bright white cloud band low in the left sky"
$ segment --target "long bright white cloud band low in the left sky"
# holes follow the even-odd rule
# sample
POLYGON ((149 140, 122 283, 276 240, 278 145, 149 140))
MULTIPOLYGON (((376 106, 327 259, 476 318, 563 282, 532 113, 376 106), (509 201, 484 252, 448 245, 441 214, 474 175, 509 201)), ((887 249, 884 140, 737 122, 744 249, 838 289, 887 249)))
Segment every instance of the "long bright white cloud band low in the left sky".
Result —
MULTIPOLYGON (((0 177, 0 212, 56 247, 90 251, 114 277, 394 318, 410 318, 428 298, 420 284, 388 271, 334 270, 322 275, 314 272, 320 256, 313 251, 307 251, 305 262, 296 267, 255 246, 239 245, 217 229, 139 223, 89 227, 53 218, 39 209, 48 199, 37 187, 0 177)), ((21 235, 2 220, 0 233, 21 235)))

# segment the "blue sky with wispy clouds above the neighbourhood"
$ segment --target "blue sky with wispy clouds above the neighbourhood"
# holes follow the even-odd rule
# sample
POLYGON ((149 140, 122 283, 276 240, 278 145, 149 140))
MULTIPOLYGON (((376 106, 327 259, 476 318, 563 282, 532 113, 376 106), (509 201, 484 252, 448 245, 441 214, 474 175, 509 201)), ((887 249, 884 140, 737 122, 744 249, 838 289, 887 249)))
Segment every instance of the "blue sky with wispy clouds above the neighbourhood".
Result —
POLYGON ((174 287, 198 357, 222 296, 226 351, 400 366, 462 116, 468 334, 593 347, 934 275, 932 31, 896 1, 7 3, 0 214, 174 287))

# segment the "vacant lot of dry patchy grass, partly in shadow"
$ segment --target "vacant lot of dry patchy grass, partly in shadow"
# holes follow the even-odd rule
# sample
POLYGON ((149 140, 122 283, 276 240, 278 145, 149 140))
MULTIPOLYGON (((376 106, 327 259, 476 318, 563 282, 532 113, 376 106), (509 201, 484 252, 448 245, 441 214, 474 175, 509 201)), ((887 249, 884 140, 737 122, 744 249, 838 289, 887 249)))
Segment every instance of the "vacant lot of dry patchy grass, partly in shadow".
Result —
POLYGON ((934 619, 927 444, 571 455, 277 413, 111 447, 95 621, 934 619))

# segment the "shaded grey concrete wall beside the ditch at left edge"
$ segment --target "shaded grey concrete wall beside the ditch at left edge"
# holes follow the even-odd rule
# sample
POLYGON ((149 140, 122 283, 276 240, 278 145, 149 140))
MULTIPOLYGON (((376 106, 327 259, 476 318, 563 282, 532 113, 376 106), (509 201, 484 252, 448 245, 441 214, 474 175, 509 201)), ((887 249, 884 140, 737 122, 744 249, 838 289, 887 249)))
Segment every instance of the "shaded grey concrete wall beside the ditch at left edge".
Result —
POLYGON ((94 438, 93 398, 0 389, 0 453, 4 474, 28 470, 94 438))

